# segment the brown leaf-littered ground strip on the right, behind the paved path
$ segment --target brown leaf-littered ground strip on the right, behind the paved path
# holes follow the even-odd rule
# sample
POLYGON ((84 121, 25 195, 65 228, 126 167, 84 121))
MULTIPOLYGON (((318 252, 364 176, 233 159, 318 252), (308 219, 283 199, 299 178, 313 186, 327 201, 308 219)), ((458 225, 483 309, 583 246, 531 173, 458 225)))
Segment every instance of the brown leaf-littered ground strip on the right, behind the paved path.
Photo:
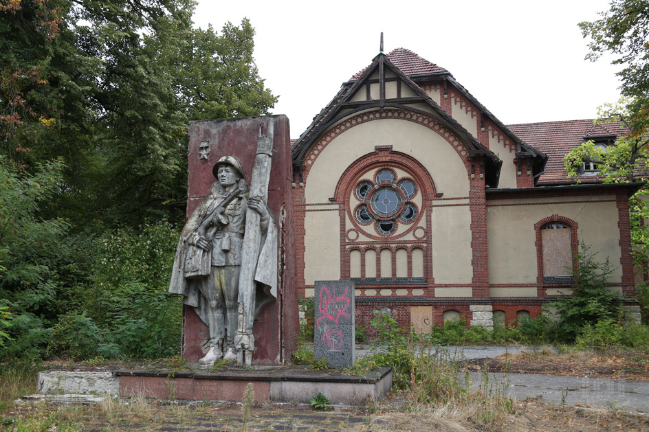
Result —
POLYGON ((550 352, 503 354, 496 359, 462 361, 472 372, 551 374, 649 381, 649 352, 550 352))

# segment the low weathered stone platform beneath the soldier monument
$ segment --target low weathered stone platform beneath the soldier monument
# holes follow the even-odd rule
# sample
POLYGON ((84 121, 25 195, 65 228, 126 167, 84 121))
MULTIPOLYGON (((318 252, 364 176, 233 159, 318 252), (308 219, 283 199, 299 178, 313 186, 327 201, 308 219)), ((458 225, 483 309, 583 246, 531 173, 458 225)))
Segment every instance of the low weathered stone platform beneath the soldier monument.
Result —
POLYGON ((232 368, 212 372, 190 370, 126 370, 106 368, 51 369, 39 372, 39 394, 115 394, 168 400, 242 402, 252 383, 256 402, 308 404, 322 393, 333 405, 363 406, 384 398, 392 387, 390 367, 364 376, 309 367, 232 368))

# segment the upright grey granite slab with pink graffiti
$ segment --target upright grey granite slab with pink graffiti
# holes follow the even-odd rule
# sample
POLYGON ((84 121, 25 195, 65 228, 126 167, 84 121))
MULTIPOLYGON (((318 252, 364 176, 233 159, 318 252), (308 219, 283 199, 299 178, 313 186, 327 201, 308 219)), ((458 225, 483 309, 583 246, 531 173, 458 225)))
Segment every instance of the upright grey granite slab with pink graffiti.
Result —
POLYGON ((354 283, 351 280, 316 281, 314 351, 331 367, 355 361, 354 283))

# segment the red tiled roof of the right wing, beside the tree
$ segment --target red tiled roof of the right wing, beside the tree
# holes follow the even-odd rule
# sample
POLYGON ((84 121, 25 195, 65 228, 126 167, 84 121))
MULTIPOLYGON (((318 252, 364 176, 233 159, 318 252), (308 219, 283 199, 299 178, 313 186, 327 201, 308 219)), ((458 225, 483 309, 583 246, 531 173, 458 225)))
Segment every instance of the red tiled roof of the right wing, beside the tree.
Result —
MULTIPOLYGON (((562 159, 572 148, 580 146, 584 142, 584 137, 624 133, 624 128, 619 122, 595 125, 593 120, 509 124, 507 128, 527 144, 548 155, 545 172, 539 178, 538 183, 574 181, 574 179, 569 179, 566 174, 562 159)), ((582 178, 582 181, 597 180, 602 179, 598 177, 582 178)))

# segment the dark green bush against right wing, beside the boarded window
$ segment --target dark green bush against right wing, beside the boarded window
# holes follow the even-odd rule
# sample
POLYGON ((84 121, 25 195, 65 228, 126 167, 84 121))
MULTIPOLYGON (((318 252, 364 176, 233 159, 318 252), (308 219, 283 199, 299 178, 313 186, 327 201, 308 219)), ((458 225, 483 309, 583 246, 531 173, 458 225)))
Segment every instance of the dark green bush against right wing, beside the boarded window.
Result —
POLYGON ((558 337, 561 341, 575 341, 586 324, 597 321, 615 321, 621 317, 621 297, 606 288, 613 269, 608 258, 601 262, 595 259, 590 247, 581 245, 577 254, 577 270, 573 272, 575 286, 573 295, 557 302, 559 315, 558 337))

